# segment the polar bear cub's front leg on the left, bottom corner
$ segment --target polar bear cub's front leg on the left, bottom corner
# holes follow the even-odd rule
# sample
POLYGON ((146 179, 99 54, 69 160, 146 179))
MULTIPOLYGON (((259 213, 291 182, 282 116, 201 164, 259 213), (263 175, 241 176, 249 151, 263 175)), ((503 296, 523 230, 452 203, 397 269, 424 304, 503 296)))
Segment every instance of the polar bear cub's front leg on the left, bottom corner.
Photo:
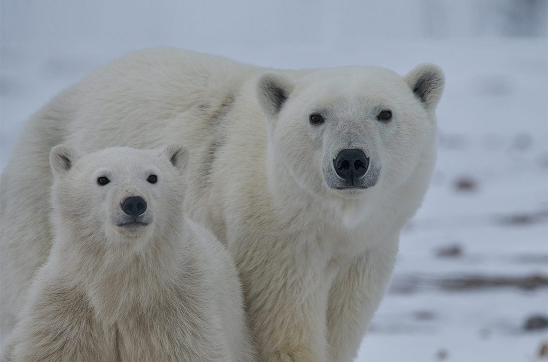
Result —
POLYGON ((55 283, 35 283, 8 337, 3 361, 116 361, 115 337, 94 323, 84 295, 55 283))

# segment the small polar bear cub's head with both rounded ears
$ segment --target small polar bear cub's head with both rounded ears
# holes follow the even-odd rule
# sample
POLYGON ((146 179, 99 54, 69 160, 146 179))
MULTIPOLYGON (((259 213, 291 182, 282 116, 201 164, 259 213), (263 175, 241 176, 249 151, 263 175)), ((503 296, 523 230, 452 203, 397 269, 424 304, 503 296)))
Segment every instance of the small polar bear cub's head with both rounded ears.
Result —
POLYGON ((126 147, 80 154, 68 145, 49 155, 57 229, 82 240, 139 244, 182 220, 188 152, 126 147))

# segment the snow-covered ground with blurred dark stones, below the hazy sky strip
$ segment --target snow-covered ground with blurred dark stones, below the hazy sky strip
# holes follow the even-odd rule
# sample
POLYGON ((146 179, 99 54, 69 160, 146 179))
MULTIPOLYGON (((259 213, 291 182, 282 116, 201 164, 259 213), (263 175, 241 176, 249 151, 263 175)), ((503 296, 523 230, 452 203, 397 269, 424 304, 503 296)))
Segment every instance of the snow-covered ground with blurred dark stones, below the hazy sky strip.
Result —
POLYGON ((369 64, 404 74, 423 61, 442 66, 447 87, 438 108, 436 172, 423 208, 402 233, 390 291, 358 361, 538 360, 548 329, 527 331, 524 325, 531 316, 548 317, 546 38, 307 33, 310 41, 271 36, 261 43, 252 36, 230 42, 219 26, 222 40, 213 31, 163 39, 148 26, 141 34, 156 37, 125 34, 121 41, 116 34, 15 36, 10 31, 23 27, 4 24, 2 167, 25 120, 49 98, 101 63, 144 46, 181 46, 280 68, 369 64))

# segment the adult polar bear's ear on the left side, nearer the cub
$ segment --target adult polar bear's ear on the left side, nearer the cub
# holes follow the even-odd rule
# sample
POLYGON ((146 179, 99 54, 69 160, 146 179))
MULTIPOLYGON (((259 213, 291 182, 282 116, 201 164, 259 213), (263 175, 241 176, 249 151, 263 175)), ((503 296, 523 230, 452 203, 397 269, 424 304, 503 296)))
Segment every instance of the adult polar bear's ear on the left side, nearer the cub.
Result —
POLYGON ((265 72, 259 75, 256 84, 257 100, 267 119, 274 119, 289 98, 295 84, 285 75, 265 72))

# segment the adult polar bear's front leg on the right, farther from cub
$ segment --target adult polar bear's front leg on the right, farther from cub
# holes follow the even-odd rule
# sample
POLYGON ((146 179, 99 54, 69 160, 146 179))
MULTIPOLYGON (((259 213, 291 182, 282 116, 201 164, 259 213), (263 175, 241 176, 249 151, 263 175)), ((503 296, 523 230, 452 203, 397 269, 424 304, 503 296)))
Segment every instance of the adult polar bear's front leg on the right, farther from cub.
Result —
POLYGON ((397 238, 381 249, 371 249, 355 258, 336 276, 329 291, 327 312, 331 362, 350 362, 392 275, 397 238))

